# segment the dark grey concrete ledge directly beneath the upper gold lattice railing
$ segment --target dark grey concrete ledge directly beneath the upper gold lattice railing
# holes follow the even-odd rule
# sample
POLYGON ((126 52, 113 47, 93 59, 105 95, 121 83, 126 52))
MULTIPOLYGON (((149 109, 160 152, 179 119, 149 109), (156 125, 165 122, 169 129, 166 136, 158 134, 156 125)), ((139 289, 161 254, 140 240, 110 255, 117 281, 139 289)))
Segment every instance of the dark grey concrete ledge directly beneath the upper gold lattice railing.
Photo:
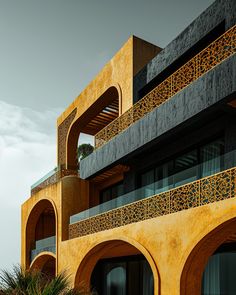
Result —
POLYGON ((236 91, 236 55, 228 58, 80 163, 93 176, 236 91))

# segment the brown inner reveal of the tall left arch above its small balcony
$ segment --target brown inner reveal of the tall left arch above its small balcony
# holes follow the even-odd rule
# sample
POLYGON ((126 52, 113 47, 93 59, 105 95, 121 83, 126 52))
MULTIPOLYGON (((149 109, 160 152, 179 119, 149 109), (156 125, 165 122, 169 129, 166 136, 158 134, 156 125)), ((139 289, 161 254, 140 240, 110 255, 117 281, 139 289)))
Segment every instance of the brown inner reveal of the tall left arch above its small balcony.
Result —
POLYGON ((33 206, 26 222, 26 268, 30 266, 31 260, 34 260, 31 259, 31 251, 35 248, 37 240, 55 236, 56 245, 57 219, 57 210, 53 201, 41 199, 33 206), (50 220, 45 221, 45 218, 50 220))

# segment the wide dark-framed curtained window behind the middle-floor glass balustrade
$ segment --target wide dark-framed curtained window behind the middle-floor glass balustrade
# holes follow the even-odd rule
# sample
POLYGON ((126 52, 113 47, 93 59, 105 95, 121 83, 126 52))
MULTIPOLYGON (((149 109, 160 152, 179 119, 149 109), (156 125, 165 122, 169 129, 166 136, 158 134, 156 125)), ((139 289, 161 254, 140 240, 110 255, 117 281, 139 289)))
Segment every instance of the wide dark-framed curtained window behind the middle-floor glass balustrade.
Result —
POLYGON ((219 172, 224 164, 224 139, 201 145, 139 176, 144 195, 150 196, 219 172))

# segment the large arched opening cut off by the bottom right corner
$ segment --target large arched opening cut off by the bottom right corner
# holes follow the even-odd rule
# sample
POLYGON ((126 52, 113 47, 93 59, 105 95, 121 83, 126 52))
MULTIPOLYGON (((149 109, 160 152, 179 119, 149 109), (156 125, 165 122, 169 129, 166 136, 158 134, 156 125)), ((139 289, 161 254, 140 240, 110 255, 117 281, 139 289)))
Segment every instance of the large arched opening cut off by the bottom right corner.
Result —
POLYGON ((189 255, 181 276, 181 295, 236 294, 236 219, 207 234, 189 255))

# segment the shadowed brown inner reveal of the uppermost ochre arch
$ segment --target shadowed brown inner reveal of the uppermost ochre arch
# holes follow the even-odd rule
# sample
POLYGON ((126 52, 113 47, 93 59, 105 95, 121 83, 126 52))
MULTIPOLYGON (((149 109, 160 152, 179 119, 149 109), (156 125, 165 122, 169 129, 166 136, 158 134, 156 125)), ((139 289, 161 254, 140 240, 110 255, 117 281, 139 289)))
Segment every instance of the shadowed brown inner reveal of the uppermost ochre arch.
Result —
POLYGON ((121 88, 118 84, 114 84, 107 88, 106 91, 94 101, 83 114, 80 114, 79 117, 74 119, 68 130, 66 139, 66 167, 68 169, 77 169, 76 152, 80 133, 95 135, 121 114, 121 105, 121 88), (103 111, 106 110, 107 107, 112 107, 114 101, 118 101, 119 109, 117 114, 113 112, 113 115, 109 118, 109 115, 103 111), (97 122, 98 115, 107 117, 101 125, 97 122), (91 124, 94 128, 90 126, 91 124))

